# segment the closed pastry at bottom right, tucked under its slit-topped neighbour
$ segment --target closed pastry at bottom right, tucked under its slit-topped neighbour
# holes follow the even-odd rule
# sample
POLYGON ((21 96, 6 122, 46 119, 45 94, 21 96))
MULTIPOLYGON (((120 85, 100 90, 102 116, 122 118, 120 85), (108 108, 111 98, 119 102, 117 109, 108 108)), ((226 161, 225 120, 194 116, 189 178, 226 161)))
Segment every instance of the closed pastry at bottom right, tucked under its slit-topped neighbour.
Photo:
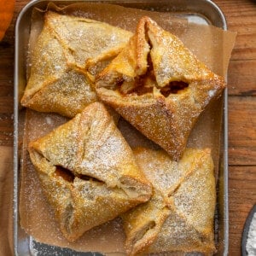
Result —
POLYGON ((212 255, 216 191, 211 150, 186 148, 178 162, 164 150, 133 152, 153 185, 153 195, 122 215, 128 255, 212 255))

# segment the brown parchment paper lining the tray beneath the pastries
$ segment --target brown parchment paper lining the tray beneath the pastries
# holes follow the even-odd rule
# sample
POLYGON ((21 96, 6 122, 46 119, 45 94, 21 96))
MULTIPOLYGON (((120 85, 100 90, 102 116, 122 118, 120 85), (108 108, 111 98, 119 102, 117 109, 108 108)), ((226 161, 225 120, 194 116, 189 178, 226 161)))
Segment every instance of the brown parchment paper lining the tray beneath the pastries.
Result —
MULTIPOLYGON (((49 9, 55 9, 49 5, 49 9)), ((137 21, 143 15, 156 20, 166 30, 176 34, 197 57, 205 62, 213 72, 225 76, 227 73, 230 53, 235 43, 236 33, 224 32, 213 26, 199 26, 174 17, 171 13, 148 12, 139 9, 128 9, 116 5, 79 3, 58 9, 68 15, 79 15, 86 18, 101 20, 113 26, 119 26, 134 32, 137 21)), ((43 26, 42 11, 35 11, 32 17, 30 47, 43 26)), ((24 63, 26 65, 26 63, 24 63)), ((218 176, 219 137, 221 135, 221 120, 223 99, 212 102, 195 125, 190 137, 189 147, 212 148, 216 177, 218 176)), ((23 165, 20 183, 20 224, 26 233, 37 241, 60 247, 69 247, 83 252, 124 253, 125 234, 121 220, 114 219, 89 230, 78 241, 68 242, 58 229, 52 209, 44 198, 37 174, 29 160, 27 144, 38 137, 52 131, 67 119, 58 114, 38 113, 27 110, 24 135, 23 165)), ((138 145, 154 147, 124 119, 119 119, 119 129, 130 143, 131 148, 138 145)))

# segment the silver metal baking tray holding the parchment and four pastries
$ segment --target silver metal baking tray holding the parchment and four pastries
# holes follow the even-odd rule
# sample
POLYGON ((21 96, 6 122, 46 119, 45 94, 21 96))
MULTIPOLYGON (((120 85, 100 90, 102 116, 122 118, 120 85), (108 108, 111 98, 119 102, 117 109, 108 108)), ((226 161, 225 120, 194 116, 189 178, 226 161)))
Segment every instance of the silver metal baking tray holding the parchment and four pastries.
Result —
MULTIPOLYGON (((86 1, 51 1, 56 5, 67 5, 86 1)), ((93 2, 93 1, 87 1, 93 2)), ((172 15, 187 18, 198 24, 218 26, 227 30, 222 11, 209 0, 105 0, 95 3, 114 3, 125 7, 170 12, 172 15)), ((15 255, 96 255, 99 253, 78 253, 61 247, 53 247, 33 240, 20 227, 19 221, 19 173, 21 164, 21 144, 24 127, 24 111, 19 108, 21 92, 26 86, 26 53, 31 26, 32 9, 44 9, 49 1, 33 0, 20 11, 15 26, 15 121, 14 121, 14 253, 15 255)), ((228 215, 228 102, 227 89, 223 95, 223 127, 218 172, 218 203, 216 207, 215 236, 218 244, 216 255, 228 255, 229 215, 228 215)))

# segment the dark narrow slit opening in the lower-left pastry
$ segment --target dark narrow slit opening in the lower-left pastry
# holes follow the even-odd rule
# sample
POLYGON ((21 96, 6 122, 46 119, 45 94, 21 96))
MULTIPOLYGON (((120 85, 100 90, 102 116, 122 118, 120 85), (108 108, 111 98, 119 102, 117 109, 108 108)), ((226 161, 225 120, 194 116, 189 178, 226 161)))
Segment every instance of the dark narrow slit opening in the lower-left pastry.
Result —
POLYGON ((73 180, 75 177, 79 177, 80 179, 86 180, 86 181, 94 181, 98 183, 103 183, 101 180, 95 178, 95 177, 90 177, 84 174, 79 174, 79 173, 73 173, 67 168, 64 168, 62 166, 55 166, 55 176, 61 177, 64 180, 66 180, 69 183, 73 183, 73 180))

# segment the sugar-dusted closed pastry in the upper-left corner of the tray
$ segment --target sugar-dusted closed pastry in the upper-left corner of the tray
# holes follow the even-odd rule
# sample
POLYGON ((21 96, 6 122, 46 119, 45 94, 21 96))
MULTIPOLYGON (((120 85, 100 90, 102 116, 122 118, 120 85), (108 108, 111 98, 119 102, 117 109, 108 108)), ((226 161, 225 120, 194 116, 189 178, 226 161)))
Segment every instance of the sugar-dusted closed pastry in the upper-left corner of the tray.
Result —
POLYGON ((102 60, 117 55, 130 37, 131 32, 107 23, 47 12, 32 49, 31 72, 21 104, 67 117, 80 113, 97 100, 90 79, 107 65, 102 60), (91 74, 84 69, 85 61, 90 61, 86 65, 91 74))

